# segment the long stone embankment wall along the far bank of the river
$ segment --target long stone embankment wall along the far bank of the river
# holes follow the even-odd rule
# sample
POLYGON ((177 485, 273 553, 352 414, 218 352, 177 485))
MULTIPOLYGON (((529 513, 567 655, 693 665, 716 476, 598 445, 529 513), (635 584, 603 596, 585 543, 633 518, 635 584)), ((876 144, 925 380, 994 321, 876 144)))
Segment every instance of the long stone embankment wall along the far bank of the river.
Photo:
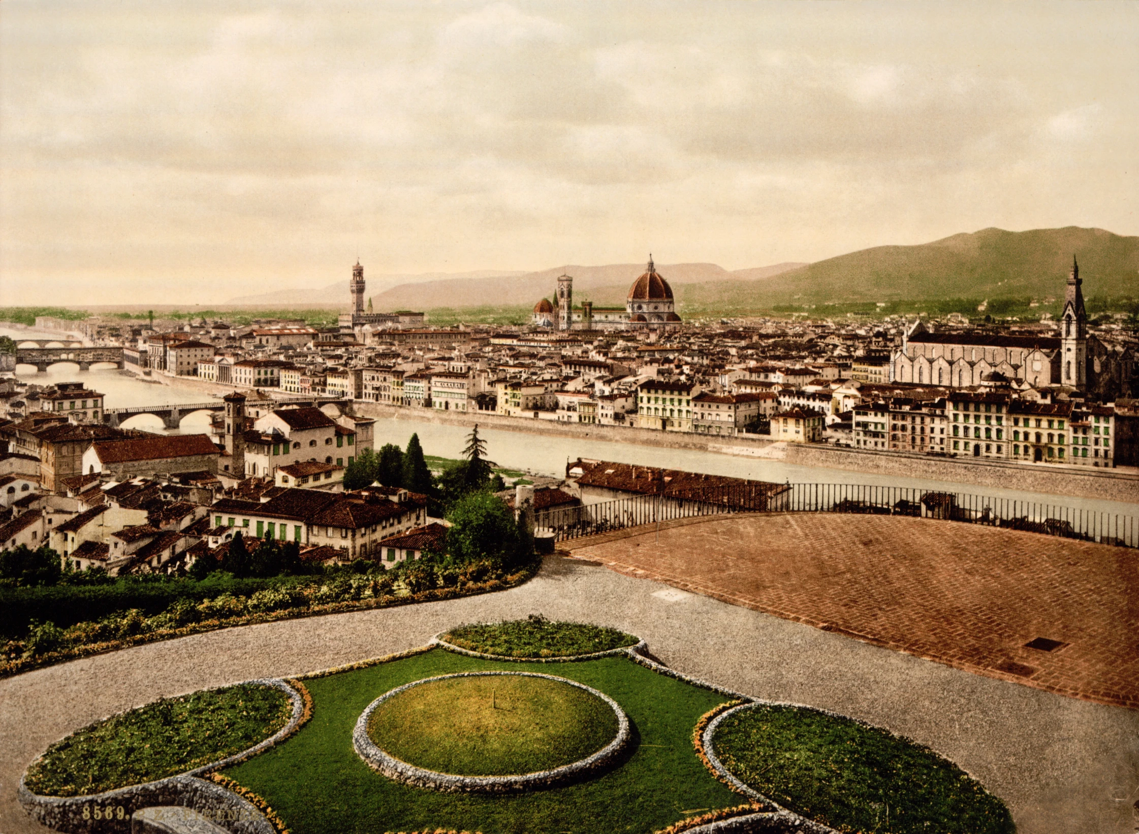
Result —
MULTIPOLYGON (((155 374, 154 379, 164 385, 191 388, 218 397, 233 390, 231 386, 189 377, 155 374)), ((980 487, 1018 489, 1051 495, 1075 495, 1083 498, 1139 504, 1139 473, 1132 471, 1122 472, 1057 464, 966 461, 895 452, 866 452, 822 444, 786 444, 757 436, 715 439, 703 435, 649 431, 625 426, 559 423, 554 420, 511 418, 491 412, 407 408, 362 401, 354 402, 352 406, 353 413, 377 419, 394 418, 446 426, 474 426, 478 423, 485 428, 523 431, 531 435, 580 437, 657 448, 696 449, 723 455, 781 460, 801 466, 821 466, 904 478, 920 476, 931 480, 945 480, 980 487)))

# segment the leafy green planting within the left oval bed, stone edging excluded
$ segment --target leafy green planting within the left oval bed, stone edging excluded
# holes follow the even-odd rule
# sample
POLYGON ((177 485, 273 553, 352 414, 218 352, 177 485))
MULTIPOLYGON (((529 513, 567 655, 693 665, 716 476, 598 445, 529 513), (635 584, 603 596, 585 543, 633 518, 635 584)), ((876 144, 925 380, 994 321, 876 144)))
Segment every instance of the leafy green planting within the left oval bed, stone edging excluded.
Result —
POLYGON ((288 695, 260 684, 159 699, 56 742, 24 784, 41 796, 84 796, 163 779, 248 750, 292 715, 288 695))

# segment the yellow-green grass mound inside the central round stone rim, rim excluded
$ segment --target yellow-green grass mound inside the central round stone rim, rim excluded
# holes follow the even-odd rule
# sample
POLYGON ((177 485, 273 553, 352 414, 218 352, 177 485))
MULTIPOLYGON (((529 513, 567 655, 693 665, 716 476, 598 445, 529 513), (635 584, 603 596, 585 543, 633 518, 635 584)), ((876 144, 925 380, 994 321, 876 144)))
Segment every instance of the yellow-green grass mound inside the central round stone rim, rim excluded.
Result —
POLYGON ((385 753, 452 776, 511 776, 585 759, 617 735, 613 708, 533 675, 428 679, 380 703, 368 737, 385 753))

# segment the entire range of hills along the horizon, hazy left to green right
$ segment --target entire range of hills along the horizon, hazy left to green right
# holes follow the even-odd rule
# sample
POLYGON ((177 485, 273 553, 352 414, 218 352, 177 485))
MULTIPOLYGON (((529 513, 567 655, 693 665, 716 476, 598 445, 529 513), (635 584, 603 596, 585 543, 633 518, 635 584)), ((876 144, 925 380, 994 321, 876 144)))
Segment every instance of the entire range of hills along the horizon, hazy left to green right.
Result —
MULTIPOLYGON (((1063 295, 1079 258, 1088 296, 1139 297, 1139 237, 1103 229, 983 229, 917 246, 879 246, 813 264, 782 263, 728 271, 708 263, 657 264, 686 307, 770 309, 780 305, 933 300, 941 298, 1048 298, 1063 295)), ((644 264, 566 264, 540 272, 380 275, 368 279, 377 311, 533 305, 552 295, 557 276, 574 279, 574 297, 597 305, 624 304, 644 264), (378 291, 375 291, 378 290, 378 291)), ((232 304, 294 303, 347 306, 347 278, 317 290, 243 296, 232 304), (303 300, 302 300, 303 299, 303 300)))

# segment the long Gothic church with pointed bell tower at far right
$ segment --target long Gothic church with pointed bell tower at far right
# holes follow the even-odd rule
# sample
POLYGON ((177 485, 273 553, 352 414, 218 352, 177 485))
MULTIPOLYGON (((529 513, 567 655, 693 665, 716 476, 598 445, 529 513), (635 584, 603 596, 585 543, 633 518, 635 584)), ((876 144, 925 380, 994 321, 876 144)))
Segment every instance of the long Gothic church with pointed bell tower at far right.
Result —
POLYGON ((1129 396, 1136 357, 1088 333, 1082 284, 1073 258, 1058 336, 935 332, 918 320, 891 358, 890 379, 949 388, 1064 387, 1105 401, 1129 396))

